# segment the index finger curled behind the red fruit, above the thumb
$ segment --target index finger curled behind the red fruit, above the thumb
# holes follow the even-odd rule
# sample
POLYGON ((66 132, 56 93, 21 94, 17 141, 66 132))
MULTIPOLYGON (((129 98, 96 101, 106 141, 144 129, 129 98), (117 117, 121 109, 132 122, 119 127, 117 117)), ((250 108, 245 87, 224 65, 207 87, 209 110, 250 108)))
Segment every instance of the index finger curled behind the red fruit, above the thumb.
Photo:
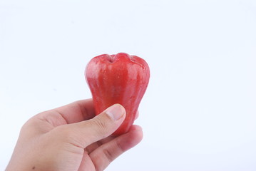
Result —
POLYGON ((26 137, 29 138, 34 135, 47 133, 59 125, 77 123, 82 120, 91 119, 94 116, 93 100, 78 100, 60 108, 35 115, 23 125, 21 131, 26 133, 26 137))

